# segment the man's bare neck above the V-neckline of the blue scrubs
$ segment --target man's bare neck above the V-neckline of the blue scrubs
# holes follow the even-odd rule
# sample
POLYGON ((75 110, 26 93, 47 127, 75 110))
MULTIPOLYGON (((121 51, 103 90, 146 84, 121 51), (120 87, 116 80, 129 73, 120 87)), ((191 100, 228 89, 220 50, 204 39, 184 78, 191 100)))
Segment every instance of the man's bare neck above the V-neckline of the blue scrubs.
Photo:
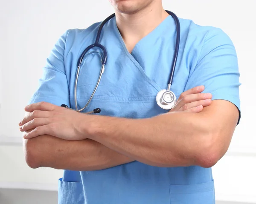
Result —
POLYGON ((153 31, 168 15, 162 4, 148 5, 134 14, 116 12, 116 25, 128 52, 131 53, 134 46, 153 31))

